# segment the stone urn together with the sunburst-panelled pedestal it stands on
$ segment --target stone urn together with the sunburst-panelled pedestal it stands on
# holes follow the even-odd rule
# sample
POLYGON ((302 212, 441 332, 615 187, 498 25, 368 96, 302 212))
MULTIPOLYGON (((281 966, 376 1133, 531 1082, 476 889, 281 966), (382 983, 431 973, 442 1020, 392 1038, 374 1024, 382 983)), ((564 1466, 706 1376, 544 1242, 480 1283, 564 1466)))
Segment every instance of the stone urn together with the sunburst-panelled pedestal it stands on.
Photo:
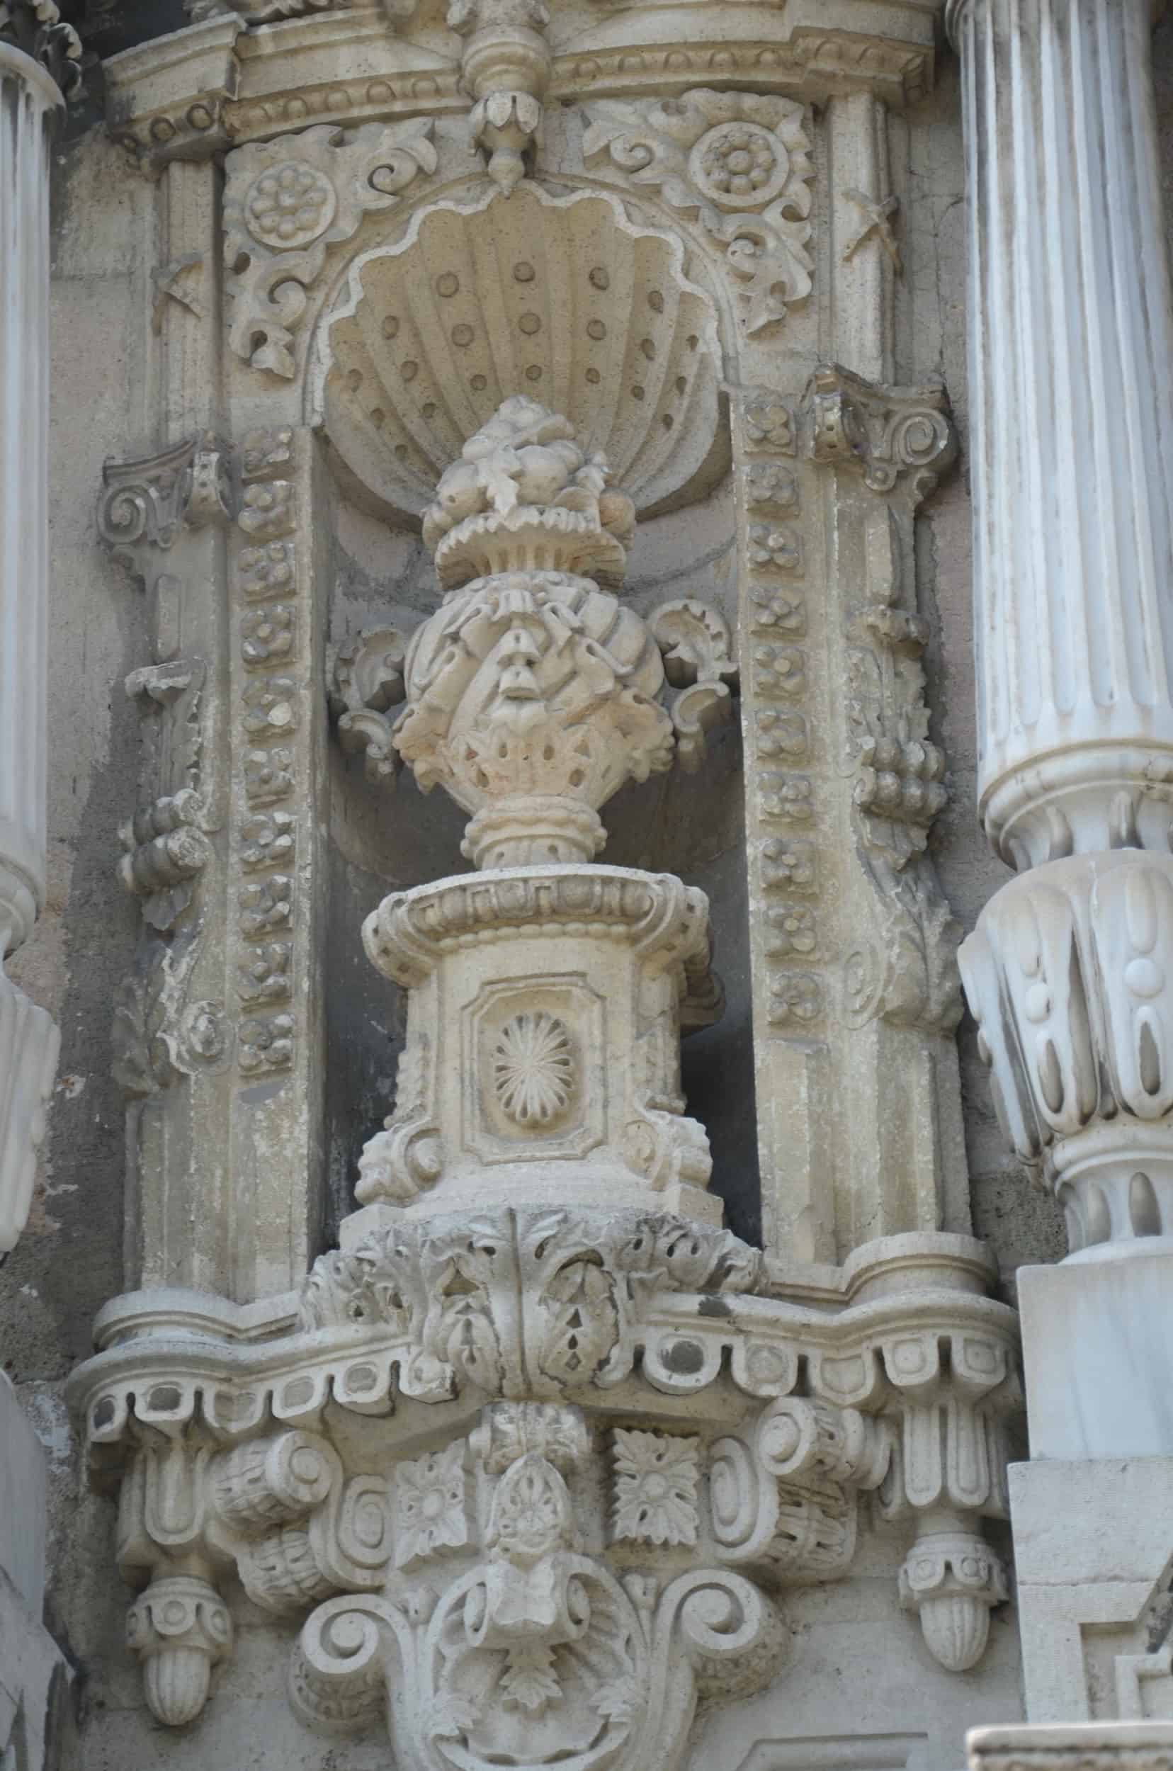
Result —
POLYGON ((679 1084, 680 1027, 721 1008, 709 905, 670 875, 590 864, 599 806, 673 751, 657 639, 615 595, 634 512, 608 478, 565 418, 514 395, 423 515, 445 597, 408 646, 393 744, 473 813, 480 875, 390 896, 363 928, 409 992, 363 1204, 457 1210, 489 1183, 510 1203, 721 1218, 679 1084))

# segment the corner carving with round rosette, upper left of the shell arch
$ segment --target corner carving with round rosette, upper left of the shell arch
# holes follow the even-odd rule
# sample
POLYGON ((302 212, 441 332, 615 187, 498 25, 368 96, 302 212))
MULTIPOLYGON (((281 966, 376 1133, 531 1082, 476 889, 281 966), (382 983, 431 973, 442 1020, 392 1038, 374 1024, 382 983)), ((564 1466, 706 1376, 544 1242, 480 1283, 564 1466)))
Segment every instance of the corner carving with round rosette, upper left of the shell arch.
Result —
POLYGON ((229 154, 225 264, 237 356, 294 375, 294 328, 328 248, 351 239, 365 214, 399 202, 420 172, 436 170, 431 136, 431 117, 363 124, 349 136, 315 124, 229 154))

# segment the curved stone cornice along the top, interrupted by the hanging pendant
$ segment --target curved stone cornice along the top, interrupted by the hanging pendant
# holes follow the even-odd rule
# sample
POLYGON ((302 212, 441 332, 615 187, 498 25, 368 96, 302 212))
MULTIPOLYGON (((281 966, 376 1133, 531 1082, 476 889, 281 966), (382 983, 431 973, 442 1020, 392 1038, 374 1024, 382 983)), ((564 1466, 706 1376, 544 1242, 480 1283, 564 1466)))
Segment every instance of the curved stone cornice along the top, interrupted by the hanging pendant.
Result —
MULTIPOLYGON (((431 37, 413 43, 402 16, 408 9, 388 7, 399 14, 395 32, 388 32, 385 11, 370 5, 239 0, 239 16, 218 12, 112 57, 105 64, 110 129, 144 166, 158 168, 174 158, 207 158, 225 142, 262 140, 314 122, 461 115, 468 104, 461 41, 452 35, 448 55, 436 53, 431 37), (273 21, 259 39, 245 25, 262 14, 273 21)), ((698 5, 689 19, 695 32, 682 43, 679 34, 657 34, 661 16, 670 14, 654 5, 601 9, 599 25, 579 30, 572 43, 558 43, 555 30, 546 97, 567 104, 602 89, 618 99, 652 101, 696 85, 741 83, 758 94, 824 103, 863 81, 902 106, 932 87, 934 11, 904 5, 893 21, 888 9, 893 34, 884 37, 872 30, 868 0, 842 0, 833 25, 826 7, 810 0, 785 9, 785 34, 764 35, 760 5, 698 5)), ((523 80, 514 90, 528 96, 530 89, 537 92, 533 80, 523 80)))

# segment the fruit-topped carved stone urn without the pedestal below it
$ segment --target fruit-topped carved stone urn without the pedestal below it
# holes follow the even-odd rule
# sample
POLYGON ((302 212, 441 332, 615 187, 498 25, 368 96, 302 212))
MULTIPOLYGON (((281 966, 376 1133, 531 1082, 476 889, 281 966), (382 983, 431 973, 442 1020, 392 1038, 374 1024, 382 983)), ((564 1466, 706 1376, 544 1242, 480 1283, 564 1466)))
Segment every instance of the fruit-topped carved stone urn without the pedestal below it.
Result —
POLYGON ((423 540, 448 590, 413 636, 395 747, 477 816, 478 866, 590 859, 597 808, 672 760, 663 664, 618 586, 631 499, 524 395, 441 476, 423 540))

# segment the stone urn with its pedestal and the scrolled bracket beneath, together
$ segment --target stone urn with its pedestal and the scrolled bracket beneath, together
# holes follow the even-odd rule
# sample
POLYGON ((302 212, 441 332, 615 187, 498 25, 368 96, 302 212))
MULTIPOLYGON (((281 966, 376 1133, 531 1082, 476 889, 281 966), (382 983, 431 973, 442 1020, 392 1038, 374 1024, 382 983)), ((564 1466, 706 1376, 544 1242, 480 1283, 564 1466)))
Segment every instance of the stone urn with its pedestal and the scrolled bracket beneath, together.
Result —
POLYGON ((344 735, 454 793, 482 871, 365 926, 409 992, 399 1100, 296 1332, 193 1296, 186 1335, 112 1312, 74 1374, 161 1721, 230 1654, 229 1569, 312 1612, 299 1716, 385 1718, 409 1771, 673 1771, 698 1704, 780 1668, 785 1587, 849 1573, 863 1493, 913 1527, 900 1597, 943 1665, 975 1665, 1005 1597, 980 1520, 1005 1516, 1015 1330, 980 1247, 886 1238, 820 1312, 703 1222, 677 1064, 719 1008, 707 905, 592 857, 673 730, 696 762, 734 664, 703 604, 622 607, 631 524, 569 421, 507 398, 425 515, 439 609, 337 664, 344 735))

